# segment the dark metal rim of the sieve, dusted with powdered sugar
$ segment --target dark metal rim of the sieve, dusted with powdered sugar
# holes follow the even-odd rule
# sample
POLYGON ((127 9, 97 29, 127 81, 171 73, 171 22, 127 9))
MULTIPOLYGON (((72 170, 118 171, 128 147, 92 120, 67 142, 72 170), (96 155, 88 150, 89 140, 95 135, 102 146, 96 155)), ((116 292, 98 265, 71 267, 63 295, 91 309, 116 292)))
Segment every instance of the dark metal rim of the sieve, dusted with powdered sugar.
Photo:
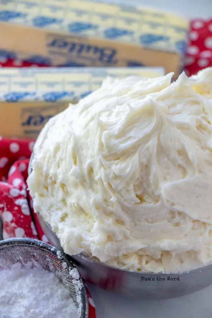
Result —
MULTIPOLYGON (((53 245, 50 245, 46 242, 42 242, 38 239, 30 239, 30 238, 11 238, 11 239, 1 239, 2 229, 3 229, 3 222, 0 217, 0 248, 7 248, 8 246, 37 246, 39 249, 48 251, 48 253, 52 254, 56 258, 58 258, 61 262, 66 262, 69 268, 73 269, 76 268, 75 261, 72 260, 72 257, 65 254, 64 252, 59 251, 53 245), (60 252, 60 257, 58 257, 57 252, 60 252)), ((81 276, 79 275, 79 280, 81 282, 80 287, 80 299, 81 299, 81 316, 80 318, 88 318, 88 295, 83 283, 81 276)))

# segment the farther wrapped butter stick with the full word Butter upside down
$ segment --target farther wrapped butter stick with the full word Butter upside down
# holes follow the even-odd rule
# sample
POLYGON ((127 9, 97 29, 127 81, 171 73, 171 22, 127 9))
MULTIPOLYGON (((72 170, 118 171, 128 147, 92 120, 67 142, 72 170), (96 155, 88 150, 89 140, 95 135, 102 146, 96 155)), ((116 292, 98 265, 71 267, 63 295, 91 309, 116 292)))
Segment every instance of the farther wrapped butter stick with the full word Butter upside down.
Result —
POLYGON ((2 0, 0 56, 51 66, 162 66, 177 77, 188 22, 84 0, 2 0))

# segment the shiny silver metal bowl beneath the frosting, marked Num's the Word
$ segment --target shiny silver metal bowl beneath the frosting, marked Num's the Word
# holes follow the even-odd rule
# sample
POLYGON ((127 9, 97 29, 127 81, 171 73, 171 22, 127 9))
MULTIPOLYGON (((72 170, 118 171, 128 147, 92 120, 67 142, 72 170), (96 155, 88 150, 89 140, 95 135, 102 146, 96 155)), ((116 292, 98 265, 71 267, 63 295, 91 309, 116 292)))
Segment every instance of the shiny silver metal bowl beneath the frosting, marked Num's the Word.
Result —
MULTIPOLYGON (((63 251, 50 225, 39 213, 38 218, 50 244, 63 251)), ((105 265, 83 254, 72 257, 82 278, 97 287, 128 297, 149 300, 175 298, 212 285, 212 266, 182 274, 146 274, 105 265)))

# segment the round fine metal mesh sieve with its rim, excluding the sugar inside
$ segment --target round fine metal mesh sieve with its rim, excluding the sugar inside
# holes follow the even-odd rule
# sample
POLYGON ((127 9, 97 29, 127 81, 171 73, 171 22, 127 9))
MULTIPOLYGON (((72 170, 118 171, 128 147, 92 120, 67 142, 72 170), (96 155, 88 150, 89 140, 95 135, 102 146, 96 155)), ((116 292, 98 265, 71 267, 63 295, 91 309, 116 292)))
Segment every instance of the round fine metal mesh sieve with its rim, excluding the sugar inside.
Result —
POLYGON ((3 222, 0 217, 0 271, 11 269, 17 262, 25 269, 36 267, 54 272, 68 288, 70 297, 78 307, 79 318, 88 318, 88 298, 83 282, 81 278, 76 280, 69 274, 69 271, 75 268, 71 258, 52 245, 36 239, 4 240, 3 222))

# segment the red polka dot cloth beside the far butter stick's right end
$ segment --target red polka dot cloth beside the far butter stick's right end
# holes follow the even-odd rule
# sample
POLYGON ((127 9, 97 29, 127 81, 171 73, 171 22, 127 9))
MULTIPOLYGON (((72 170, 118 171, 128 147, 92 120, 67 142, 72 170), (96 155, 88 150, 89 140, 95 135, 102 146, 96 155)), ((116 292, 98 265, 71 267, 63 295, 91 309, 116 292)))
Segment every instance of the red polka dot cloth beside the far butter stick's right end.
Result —
POLYGON ((190 76, 209 66, 212 66, 212 19, 192 20, 185 59, 186 73, 190 76))

